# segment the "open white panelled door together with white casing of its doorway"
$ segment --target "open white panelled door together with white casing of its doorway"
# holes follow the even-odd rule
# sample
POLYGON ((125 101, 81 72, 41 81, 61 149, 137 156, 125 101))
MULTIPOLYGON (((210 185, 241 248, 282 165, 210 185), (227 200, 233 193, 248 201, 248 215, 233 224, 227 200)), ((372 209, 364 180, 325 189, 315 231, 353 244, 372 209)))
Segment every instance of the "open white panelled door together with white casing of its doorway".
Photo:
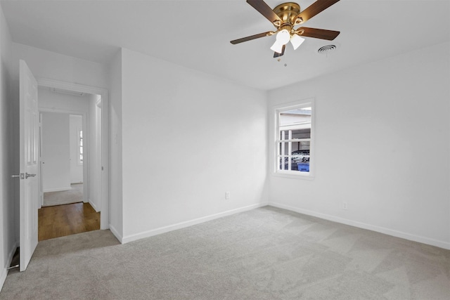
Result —
MULTIPOLYGON (((20 178, 19 182, 19 229, 20 229, 20 271, 26 270, 38 242, 38 210, 41 208, 42 193, 40 183, 41 149, 39 136, 39 109, 38 109, 38 86, 50 89, 63 89, 65 91, 75 91, 81 93, 91 93, 98 95, 101 101, 101 143, 100 167, 98 178, 93 180, 99 186, 101 197, 99 197, 99 207, 104 212, 101 217, 101 228, 108 229, 108 93, 105 89, 71 84, 64 81, 52 79, 36 79, 28 67, 25 60, 20 60, 19 70, 19 167, 20 173, 13 174, 13 177, 20 178)), ((49 107, 56 110, 56 107, 49 107)), ((85 135, 85 133, 83 133, 85 135)), ((95 156, 94 156, 95 157, 95 156)), ((84 158, 86 159, 86 158, 84 158)), ((86 177, 84 177, 86 180, 86 177)))

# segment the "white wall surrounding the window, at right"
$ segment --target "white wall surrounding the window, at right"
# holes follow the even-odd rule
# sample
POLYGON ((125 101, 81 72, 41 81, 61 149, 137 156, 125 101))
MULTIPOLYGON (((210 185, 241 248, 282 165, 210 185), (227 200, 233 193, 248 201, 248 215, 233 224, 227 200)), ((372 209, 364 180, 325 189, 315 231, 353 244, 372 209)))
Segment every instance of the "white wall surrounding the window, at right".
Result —
POLYGON ((316 178, 269 176, 271 204, 450 249, 449 53, 440 44, 270 91, 269 107, 316 99, 316 178))

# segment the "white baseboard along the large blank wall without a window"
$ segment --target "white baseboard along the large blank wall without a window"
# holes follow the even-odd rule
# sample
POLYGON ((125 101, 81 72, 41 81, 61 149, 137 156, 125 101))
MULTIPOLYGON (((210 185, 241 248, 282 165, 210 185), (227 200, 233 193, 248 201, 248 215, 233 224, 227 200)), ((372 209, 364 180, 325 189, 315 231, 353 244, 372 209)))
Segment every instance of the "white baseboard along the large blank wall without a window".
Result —
POLYGON ((231 216, 232 214, 238 214, 240 212, 243 211, 248 211, 250 209, 256 209, 258 207, 264 207, 266 206, 267 203, 259 203, 259 204, 252 204, 249 205, 247 207, 240 207, 238 209, 231 209, 229 211, 224 211, 218 214, 212 214, 210 216, 203 216, 201 218, 198 219, 193 219, 190 221, 184 221, 181 223, 176 223, 173 225, 169 225, 169 226, 164 226, 164 227, 160 227, 160 228, 155 228, 153 230, 148 230, 148 231, 144 231, 142 233, 135 233, 134 235, 128 235, 126 237, 124 237, 122 239, 122 243, 126 244, 127 242, 133 242, 135 240, 141 240, 145 237, 152 237, 153 235, 160 235, 161 233, 168 233, 169 231, 172 230, 177 230, 177 229, 181 229, 181 228, 186 228, 189 226, 193 226, 193 225, 197 225, 200 223, 205 223, 207 221, 212 221, 214 219, 219 219, 223 216, 231 216))

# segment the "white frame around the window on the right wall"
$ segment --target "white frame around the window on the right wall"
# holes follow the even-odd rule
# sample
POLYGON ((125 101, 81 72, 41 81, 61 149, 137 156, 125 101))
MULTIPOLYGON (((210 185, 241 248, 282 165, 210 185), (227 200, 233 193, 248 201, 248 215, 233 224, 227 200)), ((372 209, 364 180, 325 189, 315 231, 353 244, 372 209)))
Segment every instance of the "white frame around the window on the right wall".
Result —
MULTIPOLYGON (((314 169, 316 163, 316 156, 314 155, 314 142, 316 140, 315 134, 315 115, 316 115, 316 105, 314 98, 309 98, 305 100, 298 100, 291 103, 284 103, 281 105, 276 105, 274 107, 274 139, 273 139, 273 153, 272 158, 274 159, 273 164, 273 175, 281 176, 286 178, 298 178, 298 179, 314 179, 314 169), (304 141, 309 141, 309 172, 303 171, 292 171, 292 170, 281 170, 279 169, 279 143, 280 139, 278 134, 280 132, 280 113, 288 110, 298 110, 304 107, 311 107, 311 135, 310 138, 305 138, 304 141)), ((290 141, 290 140, 288 140, 290 141)), ((297 141, 297 140, 295 140, 297 141)))

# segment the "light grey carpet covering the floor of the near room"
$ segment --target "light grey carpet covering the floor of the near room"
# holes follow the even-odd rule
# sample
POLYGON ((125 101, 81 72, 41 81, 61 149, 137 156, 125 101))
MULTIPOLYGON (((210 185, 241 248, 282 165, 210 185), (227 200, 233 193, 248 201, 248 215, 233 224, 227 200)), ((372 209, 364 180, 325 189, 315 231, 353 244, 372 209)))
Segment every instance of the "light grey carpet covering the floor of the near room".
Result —
POLYGON ((450 251, 263 207, 119 244, 39 242, 0 299, 450 299, 450 251))

